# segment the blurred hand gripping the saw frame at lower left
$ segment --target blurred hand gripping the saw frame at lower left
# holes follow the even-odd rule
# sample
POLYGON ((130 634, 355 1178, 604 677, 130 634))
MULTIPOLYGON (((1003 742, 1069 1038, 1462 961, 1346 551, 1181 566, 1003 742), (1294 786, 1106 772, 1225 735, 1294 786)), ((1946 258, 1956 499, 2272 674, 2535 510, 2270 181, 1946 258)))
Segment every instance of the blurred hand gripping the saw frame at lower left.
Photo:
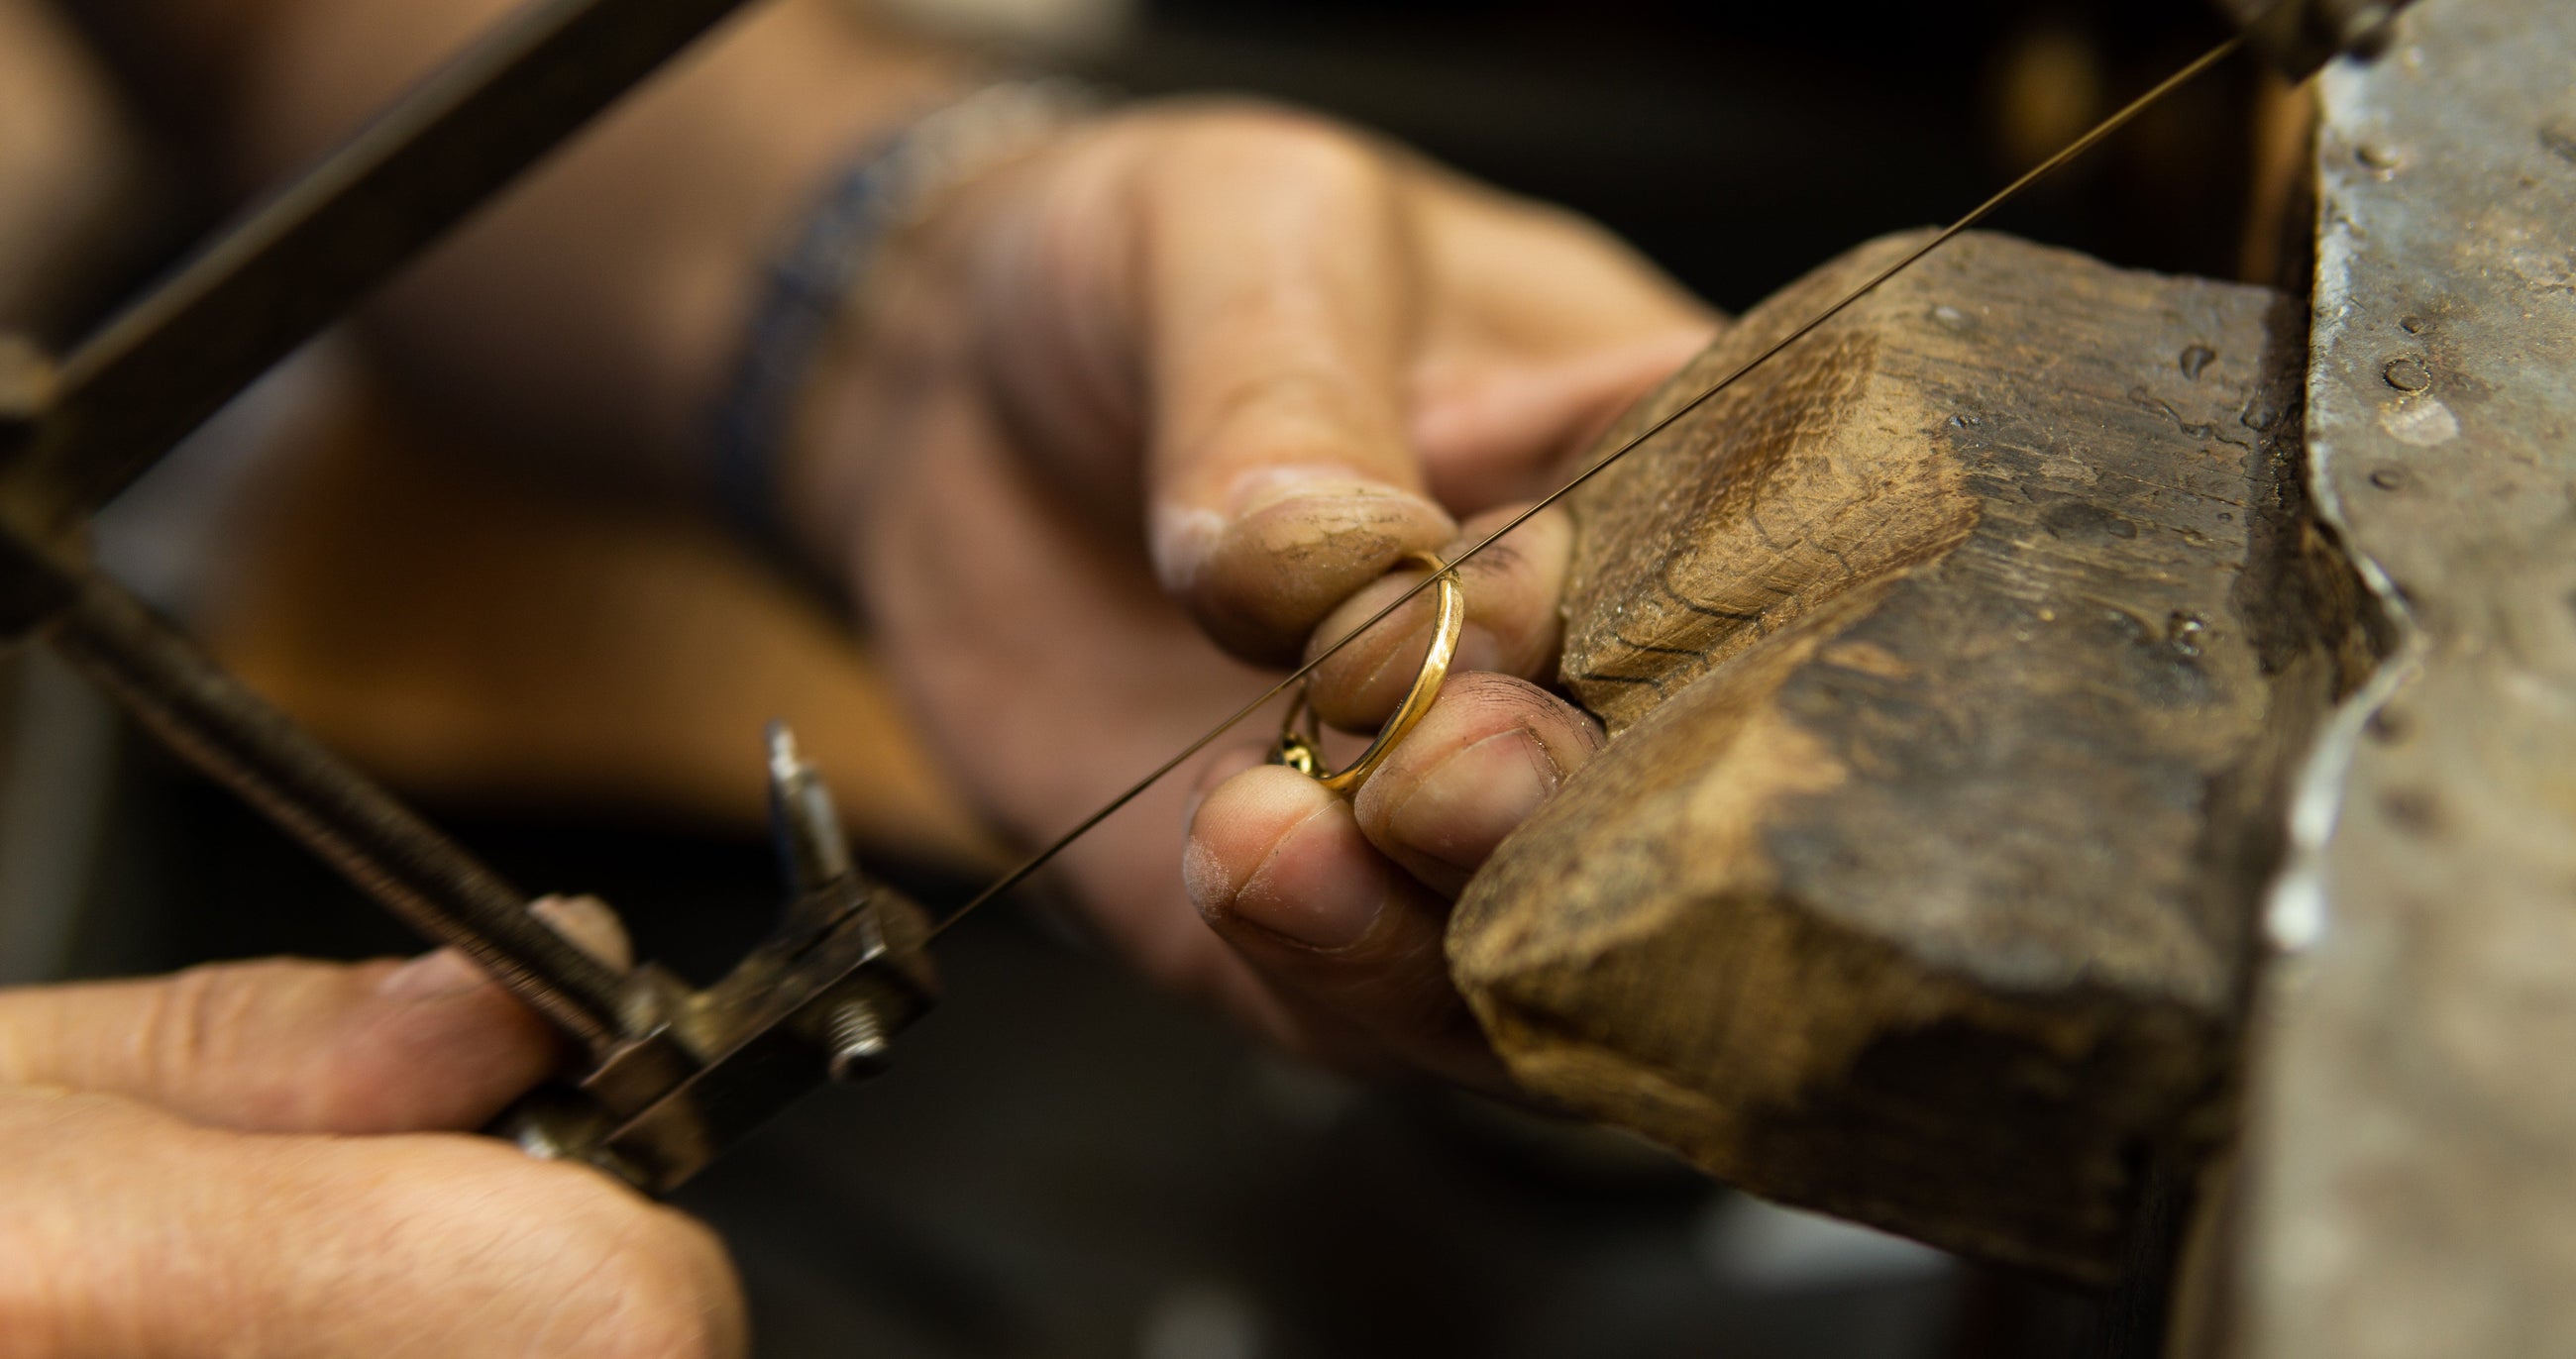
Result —
POLYGON ((0 1354, 744 1354, 706 1228, 464 1135, 556 1058, 446 950, 0 991, 0 1354))

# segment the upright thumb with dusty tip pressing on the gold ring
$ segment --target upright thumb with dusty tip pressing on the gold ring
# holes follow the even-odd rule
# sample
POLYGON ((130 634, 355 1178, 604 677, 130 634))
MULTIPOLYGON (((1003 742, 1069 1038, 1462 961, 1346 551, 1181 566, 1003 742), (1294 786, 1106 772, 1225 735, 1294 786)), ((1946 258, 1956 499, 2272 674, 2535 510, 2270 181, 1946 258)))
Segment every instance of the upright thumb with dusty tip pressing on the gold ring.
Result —
POLYGON ((1288 661, 1455 530, 1406 435, 1406 185, 1365 142, 1257 108, 1175 118, 1136 185, 1154 561, 1216 641, 1288 661))

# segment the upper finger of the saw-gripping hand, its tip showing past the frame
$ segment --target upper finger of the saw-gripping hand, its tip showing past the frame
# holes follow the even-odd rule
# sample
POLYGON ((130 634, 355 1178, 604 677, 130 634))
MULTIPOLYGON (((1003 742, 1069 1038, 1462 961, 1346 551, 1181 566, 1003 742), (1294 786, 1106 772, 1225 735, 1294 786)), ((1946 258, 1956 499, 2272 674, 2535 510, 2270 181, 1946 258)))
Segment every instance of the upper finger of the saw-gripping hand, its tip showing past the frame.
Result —
MULTIPOLYGON (((536 909, 623 960, 598 901, 536 909)), ((0 1084, 121 1094, 255 1132, 479 1127, 559 1055, 554 1030, 453 950, 0 991, 0 1084)))

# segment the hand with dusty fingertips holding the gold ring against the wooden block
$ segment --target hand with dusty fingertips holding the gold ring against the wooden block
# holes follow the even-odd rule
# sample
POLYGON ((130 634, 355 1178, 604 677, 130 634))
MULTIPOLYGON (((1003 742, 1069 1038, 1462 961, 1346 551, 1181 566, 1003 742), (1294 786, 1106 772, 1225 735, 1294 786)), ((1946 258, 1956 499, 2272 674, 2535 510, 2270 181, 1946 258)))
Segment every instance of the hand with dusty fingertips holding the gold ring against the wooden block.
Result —
MULTIPOLYGON (((1404 553, 1543 494, 1716 327, 1589 224, 1224 103, 1103 118, 961 188, 868 301, 791 515, 1030 842, 1419 579, 1386 577, 1404 553)), ((1195 813, 1175 780, 1077 844, 1100 929, 1293 1048, 1499 1081, 1440 934, 1597 746, 1530 682, 1569 543, 1548 512, 1461 569, 1461 674, 1355 800, 1236 749, 1195 813)), ((1319 669, 1321 716, 1383 721, 1427 623, 1417 600, 1319 669)))

